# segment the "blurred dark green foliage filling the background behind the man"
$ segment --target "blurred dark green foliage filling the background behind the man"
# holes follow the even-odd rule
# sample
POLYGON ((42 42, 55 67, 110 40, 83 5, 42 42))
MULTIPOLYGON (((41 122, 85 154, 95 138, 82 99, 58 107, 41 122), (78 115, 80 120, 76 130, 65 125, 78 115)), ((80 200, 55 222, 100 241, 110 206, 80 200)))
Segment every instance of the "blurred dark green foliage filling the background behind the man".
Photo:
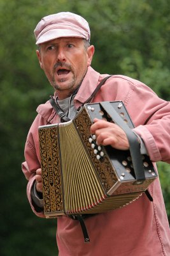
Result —
MULTIPOLYGON (((57 255, 56 220, 41 220, 32 213, 20 169, 36 107, 53 93, 39 67, 33 31, 41 17, 67 11, 89 21, 91 43, 96 47, 92 67, 139 79, 170 99, 168 0, 1 0, 2 256, 57 255)), ((170 219, 169 165, 159 163, 159 170, 170 219)))

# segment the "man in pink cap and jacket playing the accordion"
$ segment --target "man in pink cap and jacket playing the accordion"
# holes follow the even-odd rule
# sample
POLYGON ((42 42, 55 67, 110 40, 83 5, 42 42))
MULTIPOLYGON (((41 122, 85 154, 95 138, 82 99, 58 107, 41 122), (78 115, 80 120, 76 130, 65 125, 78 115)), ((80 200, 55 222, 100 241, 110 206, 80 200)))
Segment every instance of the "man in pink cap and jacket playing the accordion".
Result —
MULTIPOLYGON (((106 77, 90 67, 94 46, 89 24, 79 15, 62 12, 44 17, 34 30, 40 67, 53 86, 53 99, 70 119, 106 77)), ((153 162, 170 163, 170 104, 159 99, 145 84, 125 76, 111 76, 92 102, 122 100, 136 128, 141 152, 153 162)), ((38 109, 25 144, 22 170, 28 180, 27 196, 32 211, 43 214, 42 178, 39 156, 39 125, 56 124, 60 116, 50 102, 38 109)), ((99 145, 129 149, 125 132, 118 125, 94 120, 91 127, 99 145)), ((120 151, 121 152, 121 151, 120 151)), ((80 224, 67 216, 57 220, 59 255, 168 256, 170 232, 159 179, 149 186, 153 202, 145 194, 132 204, 85 219, 90 243, 83 242, 80 224)))

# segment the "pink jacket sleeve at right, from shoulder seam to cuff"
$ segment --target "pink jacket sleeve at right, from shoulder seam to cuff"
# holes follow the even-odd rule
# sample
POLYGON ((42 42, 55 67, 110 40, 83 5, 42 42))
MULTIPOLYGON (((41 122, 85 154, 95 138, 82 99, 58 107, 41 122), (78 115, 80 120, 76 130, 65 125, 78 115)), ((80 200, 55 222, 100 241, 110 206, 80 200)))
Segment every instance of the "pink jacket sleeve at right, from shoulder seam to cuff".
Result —
POLYGON ((170 163, 170 102, 139 83, 127 102, 127 109, 136 126, 134 131, 144 141, 150 159, 170 163))

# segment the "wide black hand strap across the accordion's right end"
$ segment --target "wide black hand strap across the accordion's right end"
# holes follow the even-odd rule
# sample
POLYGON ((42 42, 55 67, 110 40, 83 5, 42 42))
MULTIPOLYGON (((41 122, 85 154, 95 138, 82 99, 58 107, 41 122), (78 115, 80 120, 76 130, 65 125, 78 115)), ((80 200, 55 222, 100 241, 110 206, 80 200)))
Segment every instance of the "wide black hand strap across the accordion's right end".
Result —
POLYGON ((127 124, 125 124, 124 120, 118 115, 117 111, 111 106, 110 102, 100 102, 103 109, 110 115, 111 119, 115 124, 119 125, 127 135, 127 139, 129 141, 130 152, 132 157, 132 164, 134 168, 134 174, 136 176, 136 183, 142 183, 145 180, 145 172, 143 168, 143 161, 141 158, 140 145, 138 138, 134 132, 132 132, 131 128, 127 124))

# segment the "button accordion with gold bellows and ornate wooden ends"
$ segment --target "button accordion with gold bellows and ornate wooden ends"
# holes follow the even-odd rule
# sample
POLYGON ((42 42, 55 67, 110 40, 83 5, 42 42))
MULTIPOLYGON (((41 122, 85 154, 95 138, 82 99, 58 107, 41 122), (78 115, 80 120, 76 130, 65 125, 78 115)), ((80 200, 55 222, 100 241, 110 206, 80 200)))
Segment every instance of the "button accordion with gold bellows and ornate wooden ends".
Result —
POLYGON ((122 101, 85 104, 69 122, 39 126, 46 218, 111 211, 146 191, 157 173, 140 154, 133 127, 122 101), (130 150, 97 145, 90 134, 94 118, 120 125, 130 150))

